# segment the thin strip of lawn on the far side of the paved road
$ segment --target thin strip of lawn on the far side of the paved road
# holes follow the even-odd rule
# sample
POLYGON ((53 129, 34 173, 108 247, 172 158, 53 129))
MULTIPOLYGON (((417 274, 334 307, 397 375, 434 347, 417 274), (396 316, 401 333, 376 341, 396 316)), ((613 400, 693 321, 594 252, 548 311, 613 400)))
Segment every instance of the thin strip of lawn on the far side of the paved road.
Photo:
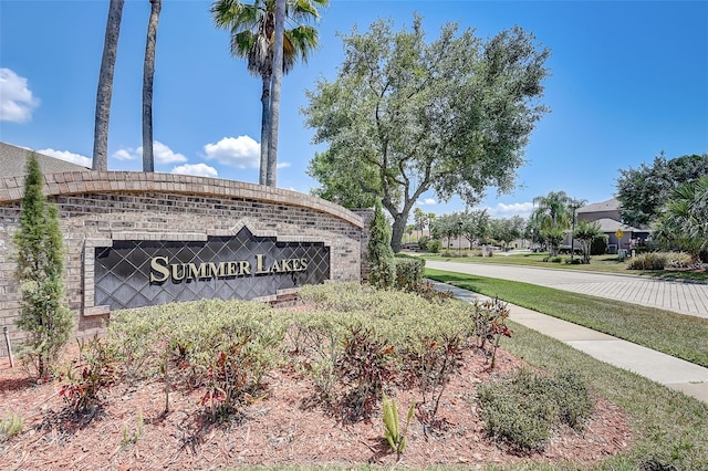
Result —
MULTIPOLYGON (((465 251, 462 251, 465 254, 465 251)), ((452 255, 457 255, 456 251, 452 251, 452 255)), ((493 257, 442 257, 439 254, 425 253, 421 255, 426 260, 441 260, 454 261, 461 263, 497 263, 504 265, 525 265, 525 266, 540 266, 545 269, 559 269, 559 270, 577 270, 577 271, 593 271, 602 273, 621 273, 621 274, 636 274, 644 276, 667 278, 667 279, 680 279, 680 280, 701 280, 708 281, 708 272, 681 272, 674 270, 627 270, 627 263, 617 259, 617 255, 597 255, 593 257, 589 265, 570 264, 570 263, 552 263, 544 262, 543 259, 548 257, 548 253, 521 253, 512 255, 501 255, 496 253, 493 257)), ((570 259, 570 255, 561 255, 563 261, 570 259)), ((577 258, 577 257, 575 257, 577 258)))

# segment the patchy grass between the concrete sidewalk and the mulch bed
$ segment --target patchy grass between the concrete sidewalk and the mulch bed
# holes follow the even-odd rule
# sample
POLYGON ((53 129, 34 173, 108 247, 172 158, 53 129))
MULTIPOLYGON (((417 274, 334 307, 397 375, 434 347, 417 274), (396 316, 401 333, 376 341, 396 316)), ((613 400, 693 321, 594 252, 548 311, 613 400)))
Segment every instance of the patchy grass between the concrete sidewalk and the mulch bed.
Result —
MULTIPOLYGON (((593 464, 596 470, 637 470, 649 463, 676 470, 708 470, 708 405, 634 373, 613 367, 521 324, 502 347, 552 374, 573 370, 596 394, 620 406, 633 430, 631 448, 593 464)), ((528 463, 522 469, 550 469, 528 463)), ((518 469, 514 467, 514 469, 518 469)), ((555 463, 558 469, 585 469, 582 463, 555 463)), ((659 468, 644 468, 659 469, 659 468)))

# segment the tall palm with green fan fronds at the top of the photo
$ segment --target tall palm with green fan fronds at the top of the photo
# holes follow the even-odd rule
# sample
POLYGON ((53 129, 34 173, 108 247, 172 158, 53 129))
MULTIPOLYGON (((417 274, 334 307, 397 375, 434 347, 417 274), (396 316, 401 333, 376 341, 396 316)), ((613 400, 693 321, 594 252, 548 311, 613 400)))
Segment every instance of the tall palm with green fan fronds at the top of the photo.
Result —
MULTIPOLYGON (((269 159, 270 135, 273 123, 271 91, 274 91, 273 52, 275 39, 275 7, 278 0, 254 0, 244 3, 238 0, 217 0, 211 13, 217 28, 228 29, 231 33, 231 54, 246 59, 247 69, 261 77, 261 164, 259 182, 267 185, 268 175, 274 186, 277 156, 269 159)), ((302 22, 319 19, 319 8, 329 4, 329 0, 287 0, 283 22, 282 72, 292 70, 295 61, 306 62, 311 51, 317 46, 317 30, 302 22)), ((279 88, 280 93, 280 88, 279 88)), ((277 112, 278 113, 278 112, 277 112)), ((277 144, 275 144, 277 147, 277 144)))

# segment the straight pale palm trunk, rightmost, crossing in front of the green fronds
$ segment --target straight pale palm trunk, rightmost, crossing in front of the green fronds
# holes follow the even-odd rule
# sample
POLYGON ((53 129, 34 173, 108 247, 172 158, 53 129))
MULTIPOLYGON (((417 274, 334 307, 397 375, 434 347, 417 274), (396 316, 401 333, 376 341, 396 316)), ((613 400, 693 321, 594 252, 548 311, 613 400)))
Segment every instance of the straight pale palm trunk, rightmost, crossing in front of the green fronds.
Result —
POLYGON ((266 185, 275 186, 278 167, 278 122, 280 121, 280 84, 283 76, 283 35, 285 31, 285 1, 275 3, 275 39, 273 42, 273 86, 270 104, 270 142, 266 185))

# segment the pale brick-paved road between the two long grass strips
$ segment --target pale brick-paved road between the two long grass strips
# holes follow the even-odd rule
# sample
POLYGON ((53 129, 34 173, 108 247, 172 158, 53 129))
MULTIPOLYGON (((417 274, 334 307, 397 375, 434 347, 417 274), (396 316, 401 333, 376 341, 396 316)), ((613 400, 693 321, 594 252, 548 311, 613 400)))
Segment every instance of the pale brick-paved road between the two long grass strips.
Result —
POLYGON ((534 266, 426 261, 426 268, 520 281, 708 318, 708 284, 534 266))

